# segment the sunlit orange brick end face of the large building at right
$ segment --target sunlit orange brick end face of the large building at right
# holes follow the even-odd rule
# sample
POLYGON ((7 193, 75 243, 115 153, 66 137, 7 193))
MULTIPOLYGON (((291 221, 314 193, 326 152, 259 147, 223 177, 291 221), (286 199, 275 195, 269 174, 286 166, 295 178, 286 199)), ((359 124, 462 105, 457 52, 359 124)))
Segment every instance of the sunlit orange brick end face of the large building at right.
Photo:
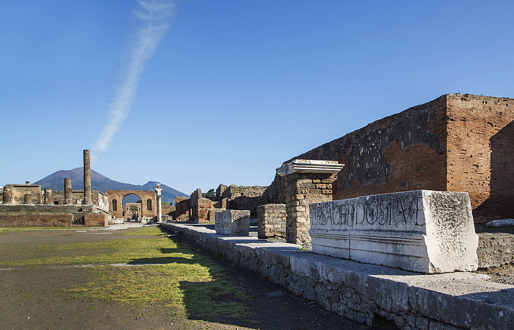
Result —
POLYGON ((475 222, 514 217, 514 99, 446 95, 448 191, 466 191, 475 222))

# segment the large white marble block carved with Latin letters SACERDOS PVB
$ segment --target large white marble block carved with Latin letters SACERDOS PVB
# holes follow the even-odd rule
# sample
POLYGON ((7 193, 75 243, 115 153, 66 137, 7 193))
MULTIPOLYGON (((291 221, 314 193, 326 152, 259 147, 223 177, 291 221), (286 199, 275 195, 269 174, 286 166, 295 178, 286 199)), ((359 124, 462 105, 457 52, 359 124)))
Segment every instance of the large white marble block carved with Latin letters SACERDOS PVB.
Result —
POLYGON ((444 273, 476 270, 467 193, 406 191, 310 205, 316 253, 359 262, 444 273))

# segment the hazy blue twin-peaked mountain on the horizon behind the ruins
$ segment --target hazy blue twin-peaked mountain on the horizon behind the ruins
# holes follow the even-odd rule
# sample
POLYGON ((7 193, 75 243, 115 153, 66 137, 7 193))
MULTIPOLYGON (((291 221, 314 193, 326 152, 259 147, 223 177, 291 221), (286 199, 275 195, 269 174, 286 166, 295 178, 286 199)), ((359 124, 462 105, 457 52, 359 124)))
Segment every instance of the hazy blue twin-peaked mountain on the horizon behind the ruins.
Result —
MULTIPOLYGON (((74 190, 82 190, 84 189, 84 170, 81 167, 78 167, 73 170, 61 170, 55 173, 48 175, 47 177, 42 178, 39 181, 33 183, 33 185, 41 185, 41 188, 51 188, 52 190, 64 190, 64 179, 71 179, 71 189, 74 190)), ((155 189, 155 184, 160 182, 157 181, 148 181, 144 185, 132 185, 132 184, 124 184, 123 182, 118 182, 112 179, 109 179, 106 176, 101 175, 100 173, 91 170, 91 189, 98 190, 101 192, 105 192, 105 190, 147 190, 153 191, 155 189)), ((161 184, 162 188, 162 201, 173 205, 175 204, 175 196, 189 196, 189 194, 185 194, 176 189, 168 187, 166 185, 161 184)), ((125 202, 134 203, 137 198, 125 198, 125 202)))

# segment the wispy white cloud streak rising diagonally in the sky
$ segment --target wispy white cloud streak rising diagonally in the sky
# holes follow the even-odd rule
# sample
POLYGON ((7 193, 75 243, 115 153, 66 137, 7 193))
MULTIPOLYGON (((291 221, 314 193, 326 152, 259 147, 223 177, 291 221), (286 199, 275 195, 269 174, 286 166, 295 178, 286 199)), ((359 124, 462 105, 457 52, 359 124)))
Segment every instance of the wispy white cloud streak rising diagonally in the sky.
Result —
POLYGON ((169 28, 169 19, 174 12, 174 4, 169 0, 138 0, 136 17, 143 27, 135 35, 135 43, 130 48, 130 57, 121 71, 120 84, 109 104, 108 117, 95 142, 91 160, 96 162, 108 149, 114 135, 125 121, 136 99, 136 91, 144 65, 157 48, 169 28))

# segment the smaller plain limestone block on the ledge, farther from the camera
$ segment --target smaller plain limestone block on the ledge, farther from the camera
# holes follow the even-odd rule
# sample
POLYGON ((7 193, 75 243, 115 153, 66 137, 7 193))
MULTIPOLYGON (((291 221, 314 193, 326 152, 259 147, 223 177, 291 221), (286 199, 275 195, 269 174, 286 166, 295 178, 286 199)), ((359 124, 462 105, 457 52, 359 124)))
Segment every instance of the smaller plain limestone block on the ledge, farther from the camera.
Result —
POLYGON ((214 228, 217 234, 248 236, 250 211, 226 210, 215 213, 214 228))

